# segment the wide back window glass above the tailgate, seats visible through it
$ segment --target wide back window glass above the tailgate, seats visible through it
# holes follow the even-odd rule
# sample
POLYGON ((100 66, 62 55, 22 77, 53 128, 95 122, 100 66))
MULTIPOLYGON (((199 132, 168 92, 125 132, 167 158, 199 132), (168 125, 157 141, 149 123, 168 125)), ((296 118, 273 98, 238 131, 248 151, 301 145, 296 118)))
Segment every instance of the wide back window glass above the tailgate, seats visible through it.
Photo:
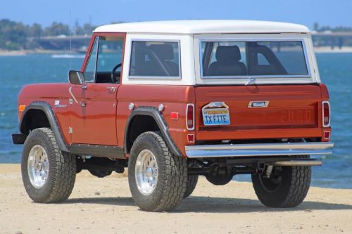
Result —
POLYGON ((201 41, 201 77, 309 77, 302 41, 201 41))

